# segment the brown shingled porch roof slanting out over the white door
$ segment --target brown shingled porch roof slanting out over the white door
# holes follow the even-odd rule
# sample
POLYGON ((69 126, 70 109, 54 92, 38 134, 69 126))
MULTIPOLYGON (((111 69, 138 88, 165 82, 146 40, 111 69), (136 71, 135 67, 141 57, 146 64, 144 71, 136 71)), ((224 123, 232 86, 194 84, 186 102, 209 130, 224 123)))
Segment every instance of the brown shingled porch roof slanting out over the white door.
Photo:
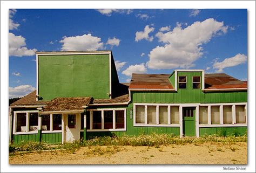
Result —
POLYGON ((83 106, 89 105, 91 99, 91 97, 55 98, 43 108, 42 112, 82 110, 83 106))

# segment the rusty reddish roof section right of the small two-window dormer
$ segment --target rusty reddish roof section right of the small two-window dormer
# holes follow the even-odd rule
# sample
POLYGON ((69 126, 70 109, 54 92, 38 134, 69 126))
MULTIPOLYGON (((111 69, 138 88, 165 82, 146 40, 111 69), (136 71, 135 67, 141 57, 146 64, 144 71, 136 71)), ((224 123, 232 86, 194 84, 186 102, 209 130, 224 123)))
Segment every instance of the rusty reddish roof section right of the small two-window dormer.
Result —
POLYGON ((247 88, 247 82, 225 73, 205 74, 205 89, 247 88))

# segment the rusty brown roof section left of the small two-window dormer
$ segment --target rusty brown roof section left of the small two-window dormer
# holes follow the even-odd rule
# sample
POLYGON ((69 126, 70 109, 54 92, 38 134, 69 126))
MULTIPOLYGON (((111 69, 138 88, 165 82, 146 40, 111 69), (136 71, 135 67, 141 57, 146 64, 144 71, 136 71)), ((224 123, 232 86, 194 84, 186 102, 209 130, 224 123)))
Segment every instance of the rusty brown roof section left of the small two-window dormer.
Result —
POLYGON ((173 89, 170 74, 132 74, 129 89, 173 89))

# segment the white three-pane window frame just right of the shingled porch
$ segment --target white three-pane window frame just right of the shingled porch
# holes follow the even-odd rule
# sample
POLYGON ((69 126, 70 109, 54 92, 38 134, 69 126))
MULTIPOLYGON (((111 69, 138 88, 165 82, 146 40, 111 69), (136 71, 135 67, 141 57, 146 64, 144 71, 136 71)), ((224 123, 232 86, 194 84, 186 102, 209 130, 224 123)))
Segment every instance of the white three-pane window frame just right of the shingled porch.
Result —
MULTIPOLYGON (((87 132, 118 132, 118 131, 126 131, 126 108, 97 108, 97 109, 87 109, 86 112, 90 112, 90 129, 86 128, 87 132), (113 111, 113 128, 112 129, 104 129, 104 111, 112 110, 113 111), (124 128, 116 129, 116 110, 124 110, 124 128), (92 129, 92 116, 93 111, 101 111, 102 112, 102 129, 92 129)), ((84 132, 84 130, 80 130, 80 132, 84 132)))

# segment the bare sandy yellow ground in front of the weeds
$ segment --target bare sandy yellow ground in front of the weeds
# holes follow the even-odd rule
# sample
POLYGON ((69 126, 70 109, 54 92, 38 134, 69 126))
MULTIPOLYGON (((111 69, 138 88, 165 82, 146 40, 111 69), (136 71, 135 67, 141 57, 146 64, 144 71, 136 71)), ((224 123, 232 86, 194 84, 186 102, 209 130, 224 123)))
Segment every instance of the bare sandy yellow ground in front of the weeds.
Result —
POLYGON ((247 143, 82 147, 17 154, 9 164, 247 164, 247 143))

